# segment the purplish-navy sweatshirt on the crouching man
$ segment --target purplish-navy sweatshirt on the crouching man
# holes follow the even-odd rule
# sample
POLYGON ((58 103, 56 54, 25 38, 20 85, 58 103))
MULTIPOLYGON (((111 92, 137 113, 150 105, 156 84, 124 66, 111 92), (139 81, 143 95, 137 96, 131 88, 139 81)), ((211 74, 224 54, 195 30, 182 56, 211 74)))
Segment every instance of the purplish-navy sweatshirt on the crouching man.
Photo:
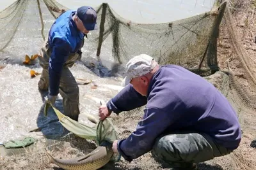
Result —
POLYGON ((155 139, 163 132, 179 129, 204 132, 230 149, 239 146, 241 127, 230 103, 211 83, 183 67, 161 66, 150 81, 147 97, 130 84, 107 106, 118 114, 145 104, 136 131, 118 141, 118 151, 126 160, 152 150, 155 139))

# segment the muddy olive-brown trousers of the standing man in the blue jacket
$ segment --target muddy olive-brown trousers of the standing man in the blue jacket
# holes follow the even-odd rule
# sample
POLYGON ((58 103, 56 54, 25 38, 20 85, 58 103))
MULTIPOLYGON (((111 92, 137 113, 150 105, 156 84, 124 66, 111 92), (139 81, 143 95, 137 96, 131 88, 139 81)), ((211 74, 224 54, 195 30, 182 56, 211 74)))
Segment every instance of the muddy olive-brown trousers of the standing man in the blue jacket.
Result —
MULTIPOLYGON (((44 45, 38 53, 38 59, 40 66, 43 67, 43 71, 38 82, 38 89, 49 89, 49 57, 51 56, 51 49, 49 48, 48 41, 44 42, 44 45)), ((63 110, 64 115, 78 120, 79 117, 79 87, 76 79, 72 75, 68 67, 72 67, 77 59, 81 58, 78 53, 72 53, 68 56, 67 62, 64 64, 61 78, 60 78, 60 95, 63 97, 63 110)))

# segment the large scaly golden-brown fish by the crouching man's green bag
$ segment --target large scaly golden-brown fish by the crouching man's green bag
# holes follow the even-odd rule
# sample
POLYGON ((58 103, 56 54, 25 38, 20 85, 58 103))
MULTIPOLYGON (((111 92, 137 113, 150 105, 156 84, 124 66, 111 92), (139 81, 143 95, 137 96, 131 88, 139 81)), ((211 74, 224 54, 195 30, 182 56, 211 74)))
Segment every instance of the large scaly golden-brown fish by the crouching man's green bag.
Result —
POLYGON ((105 166, 114 152, 112 150, 112 143, 108 141, 103 141, 100 146, 95 148, 92 152, 87 155, 77 157, 74 159, 56 159, 52 157, 52 155, 47 152, 45 148, 45 152, 49 157, 51 164, 56 164, 62 169, 67 170, 96 170, 102 166, 105 166))

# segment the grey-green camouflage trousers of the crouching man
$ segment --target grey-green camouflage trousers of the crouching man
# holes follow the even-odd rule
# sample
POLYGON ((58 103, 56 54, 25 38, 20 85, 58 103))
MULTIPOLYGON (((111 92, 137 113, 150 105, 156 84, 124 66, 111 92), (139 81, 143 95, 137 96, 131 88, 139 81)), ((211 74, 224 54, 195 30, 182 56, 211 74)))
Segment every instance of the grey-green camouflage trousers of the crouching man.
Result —
POLYGON ((216 144, 209 135, 196 132, 159 136, 152 149, 156 160, 180 169, 193 169, 193 163, 211 160, 230 152, 232 151, 216 144))

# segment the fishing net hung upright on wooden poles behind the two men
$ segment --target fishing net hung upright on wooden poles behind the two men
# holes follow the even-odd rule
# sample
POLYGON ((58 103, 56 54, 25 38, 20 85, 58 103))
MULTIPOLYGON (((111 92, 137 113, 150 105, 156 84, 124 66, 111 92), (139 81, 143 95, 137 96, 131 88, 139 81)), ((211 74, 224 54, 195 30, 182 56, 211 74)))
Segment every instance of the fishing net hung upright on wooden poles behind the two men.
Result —
MULTIPOLYGON (((24 49, 26 53, 37 53, 62 10, 68 9, 52 0, 19 0, 1 11, 0 29, 5 32, 1 35, 1 57, 8 53, 10 60, 23 58, 24 49)), ((108 4, 95 10, 99 31, 92 31, 85 41, 85 61, 96 54, 101 60, 124 66, 134 55, 147 53, 160 64, 173 63, 196 70, 218 69, 214 39, 218 36, 224 4, 219 9, 164 24, 133 23, 118 16, 108 4), (111 56, 104 54, 106 48, 111 56)))

